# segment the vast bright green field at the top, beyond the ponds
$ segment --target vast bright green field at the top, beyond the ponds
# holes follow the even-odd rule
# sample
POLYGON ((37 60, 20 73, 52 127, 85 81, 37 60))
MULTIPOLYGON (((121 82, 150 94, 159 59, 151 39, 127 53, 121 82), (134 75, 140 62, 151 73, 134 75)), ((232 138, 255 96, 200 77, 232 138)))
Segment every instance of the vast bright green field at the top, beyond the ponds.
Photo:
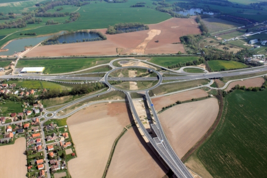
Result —
MULTIPOLYGON (((22 3, 21 6, 19 5, 16 7, 12 6, 10 7, 10 9, 9 6, 0 7, 0 11, 5 10, 8 12, 11 9, 13 9, 14 12, 16 11, 16 13, 21 13, 21 11, 19 10, 22 10, 23 8, 29 8, 30 10, 34 10, 31 7, 35 3, 30 3, 30 1, 26 2, 22 3)), ((126 3, 107 3, 105 1, 102 2, 96 1, 96 2, 97 3, 91 3, 81 6, 81 8, 77 11, 81 14, 81 17, 75 22, 60 24, 60 25, 49 25, 35 30, 30 30, 31 28, 36 27, 35 24, 33 24, 35 26, 31 27, 30 25, 28 25, 27 27, 20 29, 3 29, 0 30, 0 36, 7 35, 16 31, 23 31, 23 33, 35 32, 38 35, 44 35, 44 34, 57 33, 61 30, 77 31, 83 29, 101 29, 101 28, 107 28, 109 25, 114 25, 116 23, 122 23, 122 22, 141 22, 144 24, 154 24, 171 18, 171 16, 168 15, 167 13, 163 13, 155 9, 146 7, 147 5, 153 6, 152 5, 153 1, 150 0, 145 0, 146 2, 145 7, 136 7, 136 8, 131 8, 130 6, 134 5, 136 2, 138 2, 138 0, 131 0, 126 3)), ((68 17, 65 18, 67 19, 68 17)), ((1 40, 0 46, 5 44, 9 40, 20 38, 19 34, 20 32, 17 32, 1 40)))

